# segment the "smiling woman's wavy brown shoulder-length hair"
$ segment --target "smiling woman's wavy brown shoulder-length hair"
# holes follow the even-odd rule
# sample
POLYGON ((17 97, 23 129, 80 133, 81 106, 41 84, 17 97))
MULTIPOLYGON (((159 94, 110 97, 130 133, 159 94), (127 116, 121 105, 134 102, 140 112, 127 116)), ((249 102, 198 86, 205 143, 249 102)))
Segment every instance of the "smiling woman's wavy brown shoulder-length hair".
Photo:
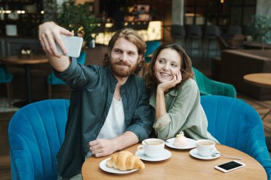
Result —
POLYGON ((185 53, 185 50, 182 47, 178 46, 177 44, 171 44, 171 43, 163 44, 154 51, 151 57, 150 65, 148 67, 148 74, 145 77, 146 85, 148 89, 150 90, 155 90, 158 86, 158 80, 156 79, 155 73, 154 73, 154 66, 155 66, 155 62, 157 60, 159 53, 163 49, 167 49, 167 48, 177 51, 177 53, 180 55, 180 60, 181 60, 180 73, 182 75, 182 80, 180 81, 178 85, 175 86, 175 88, 178 88, 182 83, 185 82, 185 80, 188 80, 189 78, 193 78, 194 73, 192 70, 192 62, 189 56, 187 55, 187 53, 185 53))

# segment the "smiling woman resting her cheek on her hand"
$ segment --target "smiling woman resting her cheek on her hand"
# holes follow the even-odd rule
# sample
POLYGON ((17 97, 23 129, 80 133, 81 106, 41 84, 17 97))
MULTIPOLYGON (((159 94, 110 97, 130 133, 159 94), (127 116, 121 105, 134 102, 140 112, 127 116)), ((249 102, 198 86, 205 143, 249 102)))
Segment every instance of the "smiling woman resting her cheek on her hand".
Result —
POLYGON ((153 53, 146 83, 150 89, 155 135, 175 137, 183 131, 191 139, 212 139, 200 105, 200 92, 193 80, 192 62, 183 48, 165 44, 153 53))

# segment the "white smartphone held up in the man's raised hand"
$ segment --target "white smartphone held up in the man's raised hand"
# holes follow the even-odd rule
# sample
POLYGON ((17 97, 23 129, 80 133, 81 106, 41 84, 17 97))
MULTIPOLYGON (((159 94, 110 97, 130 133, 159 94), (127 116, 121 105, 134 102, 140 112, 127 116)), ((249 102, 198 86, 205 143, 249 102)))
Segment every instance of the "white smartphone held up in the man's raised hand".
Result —
MULTIPOLYGON (((65 36, 62 34, 60 36, 65 48, 67 49, 66 55, 69 57, 78 58, 81 52, 83 38, 77 36, 65 36)), ((58 43, 56 43, 56 48, 58 53, 63 55, 60 46, 58 46, 58 43)))

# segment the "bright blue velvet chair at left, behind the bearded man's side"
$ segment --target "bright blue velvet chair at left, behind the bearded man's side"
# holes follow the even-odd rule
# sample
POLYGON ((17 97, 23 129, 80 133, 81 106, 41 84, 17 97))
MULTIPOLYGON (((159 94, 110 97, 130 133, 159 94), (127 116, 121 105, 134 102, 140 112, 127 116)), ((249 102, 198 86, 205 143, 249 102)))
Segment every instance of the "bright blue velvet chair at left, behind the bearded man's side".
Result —
POLYGON ((56 179, 69 100, 44 100, 21 108, 9 123, 11 179, 56 179))

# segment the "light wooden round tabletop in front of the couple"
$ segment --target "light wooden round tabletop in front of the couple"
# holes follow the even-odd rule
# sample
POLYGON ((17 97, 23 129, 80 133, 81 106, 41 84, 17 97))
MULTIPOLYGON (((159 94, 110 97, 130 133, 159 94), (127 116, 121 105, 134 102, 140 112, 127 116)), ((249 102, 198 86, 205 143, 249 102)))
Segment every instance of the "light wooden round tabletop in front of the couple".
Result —
MULTIPOLYGON (((132 147, 128 147, 125 150, 136 153, 136 148, 139 144, 135 144, 132 147)), ((113 180, 113 179, 144 179, 144 180, 160 180, 160 179, 232 179, 232 180, 250 180, 250 179, 267 179, 267 174, 262 165, 249 155, 240 152, 237 149, 227 147, 224 145, 216 145, 219 152, 222 154, 228 154, 234 157, 241 157, 242 160, 238 160, 245 163, 245 167, 242 169, 237 169, 229 173, 223 173, 214 169, 214 166, 218 164, 223 164, 225 162, 230 162, 232 159, 219 157, 212 160, 201 160, 191 157, 188 150, 178 150, 166 147, 171 152, 170 159, 166 159, 161 162, 147 162, 143 161, 145 164, 145 169, 134 171, 130 174, 111 174, 100 169, 99 164, 103 159, 108 157, 89 157, 86 159, 82 166, 82 176, 84 180, 91 179, 103 179, 103 180, 113 180)))

